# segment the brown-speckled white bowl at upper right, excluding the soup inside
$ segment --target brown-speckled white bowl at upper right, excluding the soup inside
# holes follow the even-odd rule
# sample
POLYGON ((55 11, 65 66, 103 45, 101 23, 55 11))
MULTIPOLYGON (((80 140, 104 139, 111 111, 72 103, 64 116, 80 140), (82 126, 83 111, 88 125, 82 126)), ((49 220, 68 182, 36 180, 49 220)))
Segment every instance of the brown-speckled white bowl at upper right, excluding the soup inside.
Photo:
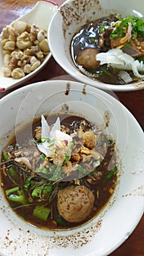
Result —
POLYGON ((131 83, 127 85, 113 85, 96 82, 83 75, 72 61, 70 54, 70 42, 72 37, 87 21, 102 18, 111 13, 121 14, 123 17, 137 15, 142 12, 143 0, 68 0, 58 9, 50 22, 48 38, 51 53, 54 59, 63 69, 76 80, 99 89, 112 89, 113 91, 134 91, 144 89, 144 82, 131 83))

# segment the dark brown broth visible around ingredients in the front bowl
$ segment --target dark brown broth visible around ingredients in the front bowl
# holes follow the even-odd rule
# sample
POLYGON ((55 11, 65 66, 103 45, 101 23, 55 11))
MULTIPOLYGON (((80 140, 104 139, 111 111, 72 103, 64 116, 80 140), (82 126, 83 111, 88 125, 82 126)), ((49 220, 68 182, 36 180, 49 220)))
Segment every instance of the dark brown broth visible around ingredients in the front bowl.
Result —
MULTIPOLYGON (((80 122, 83 120, 83 118, 80 118, 78 116, 59 116, 59 117, 61 119, 61 124, 65 125, 67 127, 70 127, 72 129, 74 129, 74 128, 77 129, 80 122)), ((48 119, 47 119, 48 124, 53 124, 56 121, 56 118, 57 118, 57 116, 48 116, 48 119)), ((33 135, 34 135, 34 129, 36 127, 38 127, 39 125, 40 125, 40 118, 34 121, 33 132, 32 132, 33 135)), ((86 129, 93 129, 93 128, 94 128, 93 124, 90 124, 87 121, 86 129)), ((21 138, 22 145, 24 144, 26 146, 26 144, 29 141, 29 138, 30 139, 32 138, 31 135, 29 135, 29 130, 30 130, 30 127, 27 126, 19 133, 19 138, 21 138)), ((30 132, 30 134, 31 134, 31 132, 30 132)), ((17 143, 17 141, 15 141, 15 138, 13 138, 8 145, 15 145, 15 143, 17 143)), ((99 147, 100 147, 100 143, 101 143, 101 141, 99 142, 99 147)), ((85 180, 85 178, 82 178, 82 180, 80 181, 81 184, 88 187, 88 189, 91 189, 94 192, 94 196, 95 196, 93 211, 91 212, 91 215, 88 217, 88 219, 86 219, 84 222, 69 223, 61 218, 63 225, 61 225, 61 224, 56 225, 56 222, 59 218, 58 211, 56 208, 56 200, 57 200, 56 197, 50 206, 53 209, 53 217, 51 215, 49 215, 48 220, 46 222, 42 221, 41 219, 37 219, 33 216, 32 213, 34 211, 35 206, 18 208, 15 210, 15 213, 18 214, 20 217, 23 217, 23 219, 25 219, 26 222, 29 222, 36 227, 41 227, 41 228, 46 228, 46 229, 61 229, 61 228, 76 227, 77 225, 82 225, 83 223, 87 222, 89 219, 96 216, 96 214, 99 214, 99 211, 105 206, 105 204, 108 202, 108 200, 110 200, 110 197, 111 197, 110 189, 113 189, 113 191, 115 189, 115 185, 116 185, 116 181, 117 181, 116 174, 113 175, 113 178, 110 178, 110 180, 107 181, 105 184, 102 182, 105 180, 107 173, 110 172, 109 170, 107 171, 107 167, 108 167, 110 159, 114 153, 114 150, 115 150, 114 146, 109 146, 107 149, 107 153, 105 155, 105 159, 101 162, 101 165, 99 165, 99 167, 96 167, 96 172, 102 171, 102 180, 100 182, 96 181, 94 184, 89 184, 88 181, 85 180), (99 193, 99 195, 97 195, 97 193, 99 193)), ((14 186, 15 184, 12 184, 12 181, 10 181, 10 178, 8 178, 8 176, 4 176, 2 167, 1 167, 1 184, 3 184, 2 188, 3 188, 4 193, 7 189, 15 187, 14 186)), ((67 181, 67 182, 64 181, 61 183, 63 188, 67 187, 70 184, 72 184, 72 181, 67 181)), ((26 195, 26 192, 25 192, 25 195, 26 195)), ((26 195, 26 197, 28 197, 28 196, 26 195)), ((7 197, 6 197, 6 199, 7 199, 7 197)), ((14 202, 11 202, 10 200, 8 200, 8 203, 10 203, 10 206, 12 208, 15 208, 15 206, 18 206, 18 204, 15 204, 14 202)), ((75 214, 77 214, 77 213, 75 213, 75 214)))

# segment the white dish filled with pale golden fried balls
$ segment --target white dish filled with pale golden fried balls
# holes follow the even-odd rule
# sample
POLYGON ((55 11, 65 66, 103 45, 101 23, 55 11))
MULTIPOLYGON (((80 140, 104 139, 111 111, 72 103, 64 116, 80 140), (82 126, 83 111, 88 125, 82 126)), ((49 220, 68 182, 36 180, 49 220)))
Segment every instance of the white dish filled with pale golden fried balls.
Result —
POLYGON ((48 46, 47 29, 56 8, 55 4, 39 1, 31 10, 31 16, 28 12, 2 29, 0 35, 0 91, 5 91, 28 80, 48 62, 51 53, 48 46), (43 12, 45 7, 47 9, 43 12), (32 15, 36 9, 39 12, 34 12, 32 15), (40 12, 42 15, 44 13, 42 20, 39 20, 40 12))

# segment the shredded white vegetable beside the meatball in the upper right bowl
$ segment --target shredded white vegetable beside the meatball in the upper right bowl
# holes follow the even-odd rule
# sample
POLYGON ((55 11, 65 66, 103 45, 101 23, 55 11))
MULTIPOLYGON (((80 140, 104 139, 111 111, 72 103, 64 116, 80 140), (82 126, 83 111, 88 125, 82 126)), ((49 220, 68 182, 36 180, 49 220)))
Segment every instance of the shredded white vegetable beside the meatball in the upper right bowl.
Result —
POLYGON ((134 60, 132 56, 124 53, 121 49, 111 49, 107 53, 96 54, 96 61, 100 61, 100 65, 107 64, 108 67, 117 69, 132 70, 137 78, 144 78, 139 72, 144 72, 143 61, 134 60))

